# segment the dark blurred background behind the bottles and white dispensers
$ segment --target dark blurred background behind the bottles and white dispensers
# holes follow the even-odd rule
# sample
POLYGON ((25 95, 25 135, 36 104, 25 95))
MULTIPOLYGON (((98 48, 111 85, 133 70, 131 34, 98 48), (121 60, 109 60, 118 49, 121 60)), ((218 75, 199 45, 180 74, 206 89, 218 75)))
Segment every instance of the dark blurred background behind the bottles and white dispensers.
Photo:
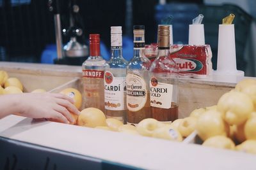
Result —
MULTIPOLYGON (((54 64, 56 13, 60 14, 62 46, 66 50, 74 46, 86 50, 89 34, 99 33, 100 50, 106 60, 113 25, 122 26, 124 57, 129 60, 132 25, 145 25, 146 44, 156 43, 157 25, 172 15, 173 43, 188 44, 189 24, 202 13, 205 43, 211 45, 216 69, 218 25, 234 13, 237 69, 246 76, 256 76, 255 6, 255 0, 61 0, 59 4, 54 0, 0 0, 0 60, 54 64)), ((67 55, 74 57, 77 53, 67 55)), ((82 55, 85 59, 88 53, 82 55)))

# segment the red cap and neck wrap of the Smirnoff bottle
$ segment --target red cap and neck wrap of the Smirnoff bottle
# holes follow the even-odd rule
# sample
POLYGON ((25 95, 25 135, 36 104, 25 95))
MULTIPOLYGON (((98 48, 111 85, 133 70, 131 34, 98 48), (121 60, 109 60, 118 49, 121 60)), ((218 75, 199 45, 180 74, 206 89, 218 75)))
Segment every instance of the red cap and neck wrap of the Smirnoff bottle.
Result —
POLYGON ((90 34, 90 56, 100 56, 100 34, 90 34))

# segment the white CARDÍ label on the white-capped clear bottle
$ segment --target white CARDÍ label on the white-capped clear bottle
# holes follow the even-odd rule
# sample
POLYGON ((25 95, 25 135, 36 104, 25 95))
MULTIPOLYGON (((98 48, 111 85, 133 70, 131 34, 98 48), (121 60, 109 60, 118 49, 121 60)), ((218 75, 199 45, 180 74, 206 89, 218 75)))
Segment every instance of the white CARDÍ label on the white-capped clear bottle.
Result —
POLYGON ((114 77, 109 71, 104 74, 105 109, 125 110, 125 77, 114 77))

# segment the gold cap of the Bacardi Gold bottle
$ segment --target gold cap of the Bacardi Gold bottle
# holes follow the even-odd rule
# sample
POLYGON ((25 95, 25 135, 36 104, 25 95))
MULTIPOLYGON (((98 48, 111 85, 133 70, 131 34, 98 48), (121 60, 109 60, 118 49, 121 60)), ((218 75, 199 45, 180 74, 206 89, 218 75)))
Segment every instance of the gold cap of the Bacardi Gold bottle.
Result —
POLYGON ((158 25, 158 48, 170 48, 170 26, 158 25))

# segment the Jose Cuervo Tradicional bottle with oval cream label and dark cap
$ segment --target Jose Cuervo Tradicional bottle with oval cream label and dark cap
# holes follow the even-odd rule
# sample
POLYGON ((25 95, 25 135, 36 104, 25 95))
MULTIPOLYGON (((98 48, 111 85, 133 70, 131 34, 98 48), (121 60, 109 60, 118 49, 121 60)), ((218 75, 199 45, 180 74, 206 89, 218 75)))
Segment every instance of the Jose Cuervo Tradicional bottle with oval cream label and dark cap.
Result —
POLYGON ((138 124, 150 117, 148 73, 150 60, 145 57, 145 27, 134 25, 134 55, 127 67, 127 124, 138 124))

